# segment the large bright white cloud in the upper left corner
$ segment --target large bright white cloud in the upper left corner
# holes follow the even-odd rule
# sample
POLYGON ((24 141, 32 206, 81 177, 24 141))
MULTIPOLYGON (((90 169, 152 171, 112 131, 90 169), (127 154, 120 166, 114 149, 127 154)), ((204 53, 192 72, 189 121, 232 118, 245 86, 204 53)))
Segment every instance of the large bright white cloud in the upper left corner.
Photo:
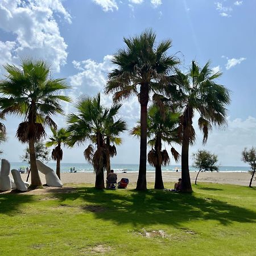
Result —
POLYGON ((55 13, 71 23, 71 15, 60 0, 1 1, 0 28, 13 34, 15 40, 1 42, 0 48, 5 48, 5 54, 0 55, 0 62, 16 63, 20 57, 31 55, 50 61, 53 69, 59 72, 68 53, 55 13))

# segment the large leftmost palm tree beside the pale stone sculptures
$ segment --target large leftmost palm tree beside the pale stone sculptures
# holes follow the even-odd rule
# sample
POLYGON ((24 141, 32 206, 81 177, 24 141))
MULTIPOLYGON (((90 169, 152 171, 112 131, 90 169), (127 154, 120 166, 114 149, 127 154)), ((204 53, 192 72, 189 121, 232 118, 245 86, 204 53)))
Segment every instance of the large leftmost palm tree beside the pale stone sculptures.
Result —
POLYGON ((31 162, 31 185, 42 185, 36 166, 35 142, 46 135, 45 126, 56 128, 52 115, 63 114, 60 101, 70 101, 60 95, 68 88, 65 79, 52 79, 51 65, 31 57, 22 59, 21 66, 6 64, 6 79, 0 81, 0 109, 2 115, 18 114, 24 117, 16 136, 28 142, 31 162))

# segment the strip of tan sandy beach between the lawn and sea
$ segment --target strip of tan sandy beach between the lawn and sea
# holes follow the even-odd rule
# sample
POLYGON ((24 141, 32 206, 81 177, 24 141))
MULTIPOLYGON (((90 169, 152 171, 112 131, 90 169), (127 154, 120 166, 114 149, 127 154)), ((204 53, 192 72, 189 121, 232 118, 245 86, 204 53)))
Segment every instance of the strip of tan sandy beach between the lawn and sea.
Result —
MULTIPOLYGON (((191 172, 191 182, 194 183, 196 179, 197 172, 191 172)), ((104 174, 106 177, 106 174, 104 174)), ((40 174, 42 183, 45 184, 46 180, 44 175, 40 174)), ((127 177, 131 184, 136 184, 138 179, 138 172, 127 172, 126 174, 118 173, 118 181, 122 177, 127 177)), ((175 183, 177 179, 181 177, 180 172, 163 172, 163 181, 164 183, 175 183)), ((211 183, 222 183, 222 184, 236 184, 236 185, 249 185, 251 175, 246 172, 202 172, 197 178, 197 182, 211 182, 211 183)), ((27 174, 22 174, 22 179, 26 180, 27 174)), ((30 181, 30 180, 28 180, 30 181)), ((69 183, 89 183, 94 184, 95 174, 93 173, 61 173, 61 181, 63 184, 69 183)), ((147 182, 155 181, 155 173, 147 172, 147 182)), ((256 181, 253 181, 253 185, 256 184, 256 181)))

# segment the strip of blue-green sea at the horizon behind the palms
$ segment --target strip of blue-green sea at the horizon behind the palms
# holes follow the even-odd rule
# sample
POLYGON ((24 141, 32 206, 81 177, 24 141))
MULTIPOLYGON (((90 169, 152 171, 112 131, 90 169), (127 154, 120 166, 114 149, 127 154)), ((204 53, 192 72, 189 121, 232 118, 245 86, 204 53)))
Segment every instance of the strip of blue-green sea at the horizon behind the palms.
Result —
MULTIPOLYGON (((25 171, 26 168, 30 167, 28 163, 24 162, 11 162, 11 169, 19 170, 20 168, 25 171)), ((47 166, 51 167, 53 170, 56 170, 56 162, 48 162, 47 166)), ((88 163, 60 163, 60 171, 61 172, 73 172, 73 168, 75 168, 76 172, 93 172, 93 167, 88 163)), ((112 164, 111 168, 115 172, 138 172, 139 164, 112 164)), ((249 167, 246 166, 220 166, 220 172, 248 172, 250 170, 249 167)), ((148 172, 154 172, 155 168, 147 165, 148 172)), ((166 172, 180 172, 181 165, 170 165, 170 166, 162 166, 162 171, 166 172)), ((190 166, 190 172, 198 171, 197 168, 190 166)))

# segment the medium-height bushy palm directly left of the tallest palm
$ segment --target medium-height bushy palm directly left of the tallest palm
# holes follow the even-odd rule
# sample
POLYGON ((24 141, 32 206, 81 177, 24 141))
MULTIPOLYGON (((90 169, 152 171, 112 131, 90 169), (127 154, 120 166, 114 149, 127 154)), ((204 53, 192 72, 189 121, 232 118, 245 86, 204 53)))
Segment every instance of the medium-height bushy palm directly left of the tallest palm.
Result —
MULTIPOLYGON (((96 188, 104 188, 104 170, 110 164, 110 141, 126 130, 126 123, 122 119, 115 121, 120 104, 106 108, 100 104, 100 93, 94 97, 80 96, 75 104, 77 114, 68 115, 68 131, 71 132, 69 145, 90 141, 92 144, 84 151, 85 159, 93 165, 96 172, 96 188), (109 144, 107 143, 109 141, 109 144)), ((114 150, 116 152, 116 150, 114 150)))

